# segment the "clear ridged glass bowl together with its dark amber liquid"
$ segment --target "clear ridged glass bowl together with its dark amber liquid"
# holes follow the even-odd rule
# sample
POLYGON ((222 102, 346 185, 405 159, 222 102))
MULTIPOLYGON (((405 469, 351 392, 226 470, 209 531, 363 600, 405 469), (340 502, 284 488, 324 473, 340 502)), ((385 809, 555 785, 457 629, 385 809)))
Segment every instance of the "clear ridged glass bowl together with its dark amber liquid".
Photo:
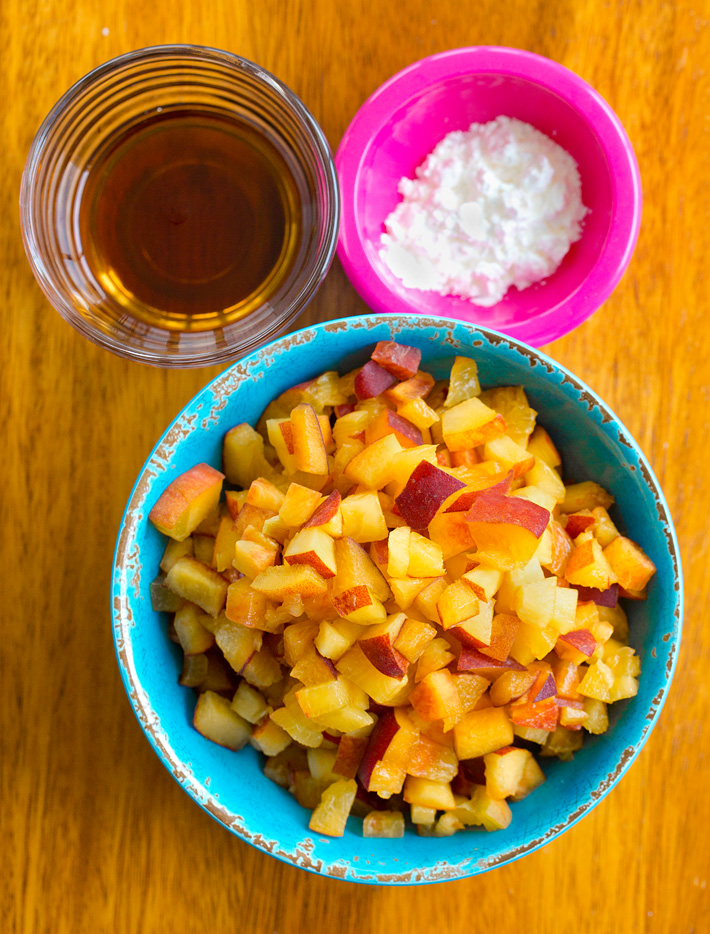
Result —
POLYGON ((286 330, 330 266, 339 218, 302 102, 196 46, 129 53, 71 88, 32 144, 20 206, 51 304, 160 366, 234 360, 286 330))

